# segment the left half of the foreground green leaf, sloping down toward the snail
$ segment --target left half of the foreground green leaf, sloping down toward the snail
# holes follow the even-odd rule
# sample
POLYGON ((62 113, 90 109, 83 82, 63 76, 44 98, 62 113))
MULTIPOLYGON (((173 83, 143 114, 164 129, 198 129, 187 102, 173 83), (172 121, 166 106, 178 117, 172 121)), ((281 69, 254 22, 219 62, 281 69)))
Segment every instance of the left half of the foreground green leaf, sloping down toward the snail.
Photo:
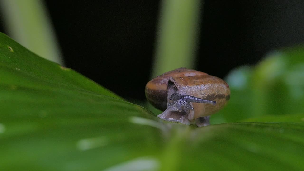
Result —
POLYGON ((152 113, 4 34, 0 78, 0 170, 96 170, 136 157, 130 140, 142 152, 157 147, 156 128, 130 122, 158 122, 152 113))

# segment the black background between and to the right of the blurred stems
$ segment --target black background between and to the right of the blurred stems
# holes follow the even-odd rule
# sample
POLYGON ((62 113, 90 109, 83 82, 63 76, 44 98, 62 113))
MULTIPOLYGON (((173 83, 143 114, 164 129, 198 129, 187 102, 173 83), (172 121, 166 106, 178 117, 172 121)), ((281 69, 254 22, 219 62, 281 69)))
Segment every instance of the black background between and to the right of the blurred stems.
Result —
MULTIPOLYGON (((161 1, 45 3, 67 67, 126 99, 145 99, 161 1)), ((272 49, 304 43, 302 0, 205 0, 201 20, 196 69, 220 78, 272 49)))

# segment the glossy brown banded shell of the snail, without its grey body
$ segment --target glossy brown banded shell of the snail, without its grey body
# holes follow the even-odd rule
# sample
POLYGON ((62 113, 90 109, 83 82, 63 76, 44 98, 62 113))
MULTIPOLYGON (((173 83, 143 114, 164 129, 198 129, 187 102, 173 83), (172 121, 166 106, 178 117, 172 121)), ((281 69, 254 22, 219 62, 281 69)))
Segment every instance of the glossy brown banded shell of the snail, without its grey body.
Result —
POLYGON ((216 105, 192 103, 193 120, 209 116, 222 109, 230 99, 229 85, 222 79, 193 69, 178 68, 150 80, 145 87, 148 101, 159 110, 166 110, 168 99, 168 82, 172 78, 177 92, 182 95, 216 101, 216 105))

